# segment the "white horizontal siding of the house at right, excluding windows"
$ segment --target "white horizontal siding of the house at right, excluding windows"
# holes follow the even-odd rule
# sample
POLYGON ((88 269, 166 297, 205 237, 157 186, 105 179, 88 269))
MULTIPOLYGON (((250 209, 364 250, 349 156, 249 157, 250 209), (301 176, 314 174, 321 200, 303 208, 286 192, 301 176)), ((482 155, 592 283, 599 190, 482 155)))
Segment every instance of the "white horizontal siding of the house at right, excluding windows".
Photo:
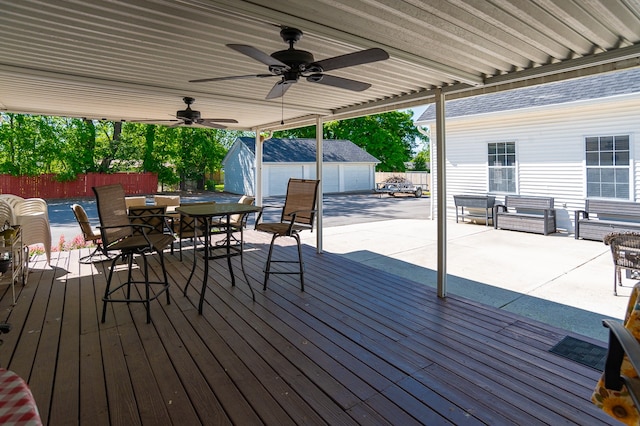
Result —
MULTIPOLYGON (((514 141, 517 192, 554 197, 558 228, 573 232, 574 211, 586 198, 584 139, 628 134, 633 159, 640 153, 640 94, 449 119, 446 134, 449 211, 455 194, 487 193, 487 144, 514 141)), ((435 128, 431 135, 435 145, 435 128)), ((632 201, 640 199, 637 163, 632 160, 632 201)), ((435 171, 434 162, 434 179, 435 171)))

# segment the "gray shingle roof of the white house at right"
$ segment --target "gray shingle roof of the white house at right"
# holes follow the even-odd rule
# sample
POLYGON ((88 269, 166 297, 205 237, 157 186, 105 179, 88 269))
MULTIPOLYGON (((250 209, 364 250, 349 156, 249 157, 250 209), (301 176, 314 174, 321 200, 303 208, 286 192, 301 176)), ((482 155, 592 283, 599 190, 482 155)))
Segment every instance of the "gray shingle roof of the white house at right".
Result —
MULTIPOLYGON (((446 103, 445 116, 463 117, 637 92, 640 92, 640 68, 456 99, 446 103)), ((435 118, 435 105, 432 104, 417 121, 433 121, 435 118)))

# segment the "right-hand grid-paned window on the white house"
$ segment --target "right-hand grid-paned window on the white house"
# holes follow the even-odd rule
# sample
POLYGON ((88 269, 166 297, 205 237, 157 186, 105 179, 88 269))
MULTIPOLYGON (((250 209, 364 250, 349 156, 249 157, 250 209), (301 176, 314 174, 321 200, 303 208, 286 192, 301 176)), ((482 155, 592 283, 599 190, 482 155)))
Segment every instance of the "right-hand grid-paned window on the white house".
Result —
POLYGON ((629 199, 629 135, 585 139, 587 197, 629 199))

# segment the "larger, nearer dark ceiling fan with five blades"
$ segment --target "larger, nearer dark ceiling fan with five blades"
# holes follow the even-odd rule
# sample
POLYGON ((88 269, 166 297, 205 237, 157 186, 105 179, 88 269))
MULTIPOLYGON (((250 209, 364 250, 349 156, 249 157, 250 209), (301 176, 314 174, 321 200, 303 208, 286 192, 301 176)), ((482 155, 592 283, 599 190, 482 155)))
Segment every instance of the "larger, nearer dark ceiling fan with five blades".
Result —
POLYGON ((243 55, 247 55, 258 62, 268 65, 269 74, 203 78, 190 80, 189 82, 204 83, 209 81, 237 80, 255 77, 278 77, 280 81, 271 88, 266 99, 274 99, 283 96, 287 89, 289 89, 293 83, 296 83, 300 77, 305 77, 307 81, 311 83, 319 83, 360 92, 367 90, 371 87, 371 84, 325 74, 325 72, 389 59, 389 54, 384 50, 380 48, 372 48, 347 53, 345 55, 334 56, 321 61, 315 61, 310 52, 293 48, 293 45, 302 38, 302 31, 296 28, 283 27, 280 31, 280 36, 285 43, 289 43, 289 48, 274 52, 271 55, 267 55, 253 46, 247 46, 245 44, 227 44, 227 47, 242 53, 243 55))

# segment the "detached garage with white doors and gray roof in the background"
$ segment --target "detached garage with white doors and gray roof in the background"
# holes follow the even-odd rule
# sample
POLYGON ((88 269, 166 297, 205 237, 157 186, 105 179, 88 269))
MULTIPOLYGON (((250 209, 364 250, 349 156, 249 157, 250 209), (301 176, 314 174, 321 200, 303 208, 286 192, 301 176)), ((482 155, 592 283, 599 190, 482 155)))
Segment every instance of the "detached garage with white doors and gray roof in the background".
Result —
MULTIPOLYGON (((285 195, 289 178, 316 177, 315 139, 272 138, 263 144, 263 196, 285 195)), ((324 193, 375 188, 375 157, 348 140, 325 140, 322 150, 324 193)), ((236 139, 222 161, 225 191, 255 195, 255 152, 255 138, 236 139)))

